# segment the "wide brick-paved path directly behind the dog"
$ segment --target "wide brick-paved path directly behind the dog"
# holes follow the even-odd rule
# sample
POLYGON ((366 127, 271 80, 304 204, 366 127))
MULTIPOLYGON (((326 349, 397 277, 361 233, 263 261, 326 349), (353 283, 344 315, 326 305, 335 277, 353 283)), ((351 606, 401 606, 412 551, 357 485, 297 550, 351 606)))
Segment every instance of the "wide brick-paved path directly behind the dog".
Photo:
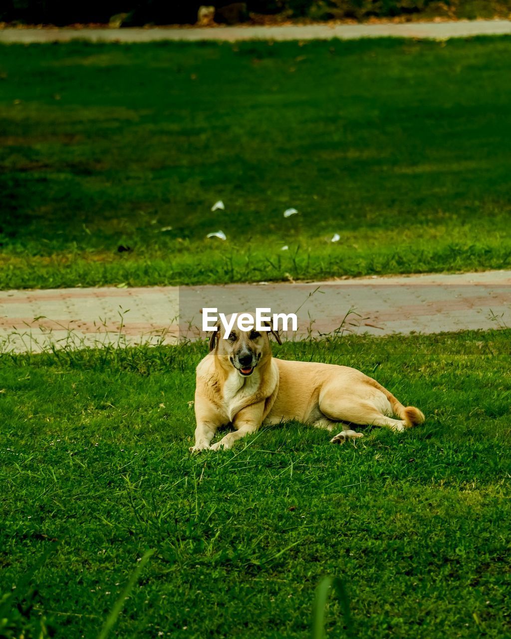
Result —
POLYGON ((434 333, 511 327, 511 271, 365 277, 308 284, 72 288, 0 292, 0 351, 173 344, 201 334, 203 307, 296 312, 310 332, 434 333))

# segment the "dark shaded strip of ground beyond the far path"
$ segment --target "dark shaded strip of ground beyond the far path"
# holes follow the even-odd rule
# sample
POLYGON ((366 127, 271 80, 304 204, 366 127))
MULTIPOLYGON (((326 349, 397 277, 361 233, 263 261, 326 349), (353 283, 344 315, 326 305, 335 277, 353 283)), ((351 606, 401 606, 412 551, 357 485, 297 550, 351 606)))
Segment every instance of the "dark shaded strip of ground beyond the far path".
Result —
POLYGON ((261 17, 278 19, 355 19, 434 17, 451 19, 506 17, 511 0, 4 0, 0 20, 21 24, 194 24, 201 5, 215 6, 215 22, 235 24, 261 17))

